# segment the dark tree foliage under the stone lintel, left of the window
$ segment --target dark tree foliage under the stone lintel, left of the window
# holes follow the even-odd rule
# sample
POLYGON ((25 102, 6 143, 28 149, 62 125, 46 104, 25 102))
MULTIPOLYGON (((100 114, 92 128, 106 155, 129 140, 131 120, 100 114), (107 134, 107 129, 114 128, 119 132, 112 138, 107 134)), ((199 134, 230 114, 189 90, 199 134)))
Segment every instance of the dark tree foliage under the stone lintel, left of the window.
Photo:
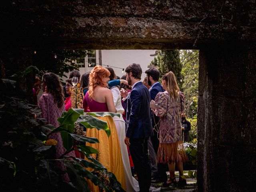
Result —
POLYGON ((84 50, 55 50, 51 52, 37 50, 36 54, 33 55, 33 65, 40 69, 40 76, 46 72, 53 72, 60 77, 67 77, 64 73, 74 69, 78 70, 78 66, 72 63, 72 60, 85 56, 86 51, 84 50), (54 58, 54 54, 57 58, 54 58), (66 62, 70 62, 70 65, 66 62))

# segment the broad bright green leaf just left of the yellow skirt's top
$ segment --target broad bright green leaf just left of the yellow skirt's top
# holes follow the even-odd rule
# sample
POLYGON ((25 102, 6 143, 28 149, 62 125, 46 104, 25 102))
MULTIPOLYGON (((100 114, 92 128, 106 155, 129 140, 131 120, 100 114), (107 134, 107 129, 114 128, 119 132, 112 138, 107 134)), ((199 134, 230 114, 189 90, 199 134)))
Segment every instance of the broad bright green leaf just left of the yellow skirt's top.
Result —
POLYGON ((58 122, 60 122, 60 126, 74 124, 80 115, 84 114, 83 109, 73 109, 69 108, 68 112, 65 112, 60 118, 58 118, 58 122))

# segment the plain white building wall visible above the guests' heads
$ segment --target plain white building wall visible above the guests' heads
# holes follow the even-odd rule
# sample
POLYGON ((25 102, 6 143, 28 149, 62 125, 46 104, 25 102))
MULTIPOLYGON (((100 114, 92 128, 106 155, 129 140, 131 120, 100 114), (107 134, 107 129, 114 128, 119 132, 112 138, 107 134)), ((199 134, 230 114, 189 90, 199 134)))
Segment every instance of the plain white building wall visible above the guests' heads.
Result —
MULTIPOLYGON (((156 50, 102 50, 102 66, 115 66, 125 68, 133 63, 140 64, 142 68, 142 78, 146 76, 145 72, 148 65, 154 59, 150 54, 154 54, 156 50)), ((122 69, 113 68, 116 75, 122 77, 122 69)))

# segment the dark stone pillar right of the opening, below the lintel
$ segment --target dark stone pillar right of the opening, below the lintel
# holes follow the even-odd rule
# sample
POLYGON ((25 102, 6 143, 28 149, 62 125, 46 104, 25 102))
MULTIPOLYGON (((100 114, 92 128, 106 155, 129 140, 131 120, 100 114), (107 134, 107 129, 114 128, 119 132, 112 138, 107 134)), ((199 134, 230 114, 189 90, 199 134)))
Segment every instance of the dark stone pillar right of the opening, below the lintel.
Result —
POLYGON ((254 191, 255 44, 200 50, 198 191, 254 191))

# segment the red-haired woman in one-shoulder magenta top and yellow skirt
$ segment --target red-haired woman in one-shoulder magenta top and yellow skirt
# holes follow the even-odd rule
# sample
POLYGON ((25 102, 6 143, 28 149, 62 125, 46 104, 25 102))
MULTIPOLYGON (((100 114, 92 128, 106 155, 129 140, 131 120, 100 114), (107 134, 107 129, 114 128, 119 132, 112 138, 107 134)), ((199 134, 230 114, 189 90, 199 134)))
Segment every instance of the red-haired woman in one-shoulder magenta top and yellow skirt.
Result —
MULTIPOLYGON (((102 66, 95 66, 90 72, 89 90, 83 100, 85 111, 89 108, 90 112, 116 112, 112 92, 108 89, 109 76, 110 72, 102 66)), ((99 143, 86 143, 86 145, 99 151, 97 160, 109 172, 114 173, 122 188, 126 189, 122 154, 114 120, 111 116, 98 118, 107 122, 111 131, 110 137, 108 138, 104 130, 87 129, 86 136, 97 138, 99 143)), ((89 186, 92 192, 99 191, 98 186, 92 185, 91 182, 89 182, 89 186)))

